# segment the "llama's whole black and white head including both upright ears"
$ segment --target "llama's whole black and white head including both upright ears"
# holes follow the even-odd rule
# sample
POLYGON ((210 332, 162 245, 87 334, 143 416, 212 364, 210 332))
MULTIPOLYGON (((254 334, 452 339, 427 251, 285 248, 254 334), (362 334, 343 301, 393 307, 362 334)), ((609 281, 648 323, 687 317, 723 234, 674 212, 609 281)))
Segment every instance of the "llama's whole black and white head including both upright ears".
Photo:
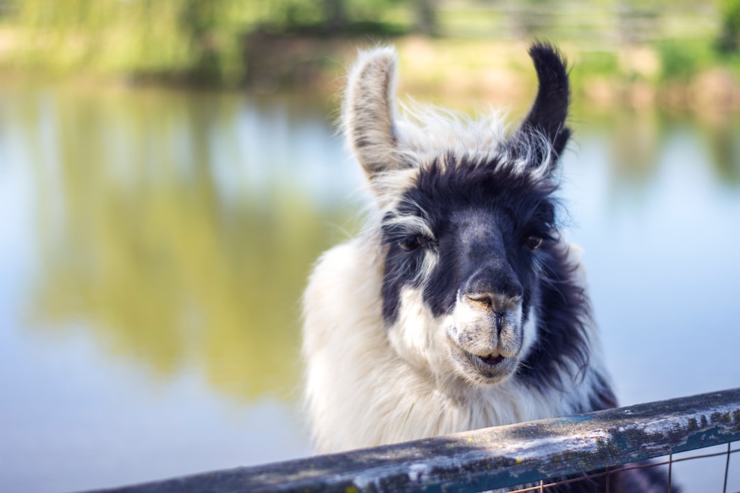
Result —
POLYGON ((539 92, 509 137, 494 118, 394 112, 395 53, 360 55, 343 126, 380 209, 383 320, 399 356, 442 378, 499 384, 538 345, 545 286, 565 250, 551 194, 570 134, 568 75, 530 50, 539 92))

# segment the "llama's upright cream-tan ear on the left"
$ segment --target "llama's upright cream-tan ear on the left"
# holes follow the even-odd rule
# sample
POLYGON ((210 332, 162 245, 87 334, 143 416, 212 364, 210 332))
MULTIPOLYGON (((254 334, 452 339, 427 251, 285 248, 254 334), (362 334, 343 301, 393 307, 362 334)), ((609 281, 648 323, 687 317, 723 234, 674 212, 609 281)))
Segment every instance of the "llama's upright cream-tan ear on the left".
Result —
POLYGON ((343 108, 349 146, 370 178, 401 166, 395 126, 396 52, 360 52, 351 69, 343 108))

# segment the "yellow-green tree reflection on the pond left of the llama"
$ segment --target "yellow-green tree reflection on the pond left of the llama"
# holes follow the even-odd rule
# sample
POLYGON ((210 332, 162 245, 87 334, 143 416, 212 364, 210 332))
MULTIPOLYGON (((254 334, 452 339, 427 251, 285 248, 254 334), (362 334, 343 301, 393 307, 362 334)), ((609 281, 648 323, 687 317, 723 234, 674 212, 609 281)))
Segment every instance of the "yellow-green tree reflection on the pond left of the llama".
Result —
POLYGON ((312 170, 294 174, 305 159, 285 144, 318 127, 314 149, 338 153, 332 130, 237 95, 70 91, 23 117, 40 248, 30 325, 82 319, 153 375, 195 366, 229 394, 291 395, 297 300, 347 217, 312 200, 312 170))

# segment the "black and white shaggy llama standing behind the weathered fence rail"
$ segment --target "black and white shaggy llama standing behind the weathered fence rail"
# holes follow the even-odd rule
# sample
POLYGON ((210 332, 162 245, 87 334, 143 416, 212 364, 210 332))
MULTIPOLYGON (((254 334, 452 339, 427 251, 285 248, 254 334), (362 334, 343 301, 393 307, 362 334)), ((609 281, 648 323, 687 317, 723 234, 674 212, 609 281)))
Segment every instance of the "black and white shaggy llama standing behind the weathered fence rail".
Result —
POLYGON ((495 115, 417 105, 397 118, 394 50, 360 52, 342 123, 374 207, 304 295, 317 452, 616 406, 579 251, 557 220, 565 61, 544 43, 529 54, 539 89, 507 137, 495 115))

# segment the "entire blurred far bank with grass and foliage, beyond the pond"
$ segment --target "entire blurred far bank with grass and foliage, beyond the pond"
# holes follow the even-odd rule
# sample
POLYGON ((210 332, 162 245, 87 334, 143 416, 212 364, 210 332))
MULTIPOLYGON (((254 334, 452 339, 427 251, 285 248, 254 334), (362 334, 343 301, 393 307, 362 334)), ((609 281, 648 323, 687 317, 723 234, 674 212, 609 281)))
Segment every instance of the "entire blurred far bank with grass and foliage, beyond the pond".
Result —
POLYGON ((0 71, 331 94, 357 47, 380 40, 399 49, 402 92, 516 106, 534 84, 528 40, 545 38, 568 55, 580 101, 740 109, 740 0, 694 3, 15 0, 0 17, 0 71))

